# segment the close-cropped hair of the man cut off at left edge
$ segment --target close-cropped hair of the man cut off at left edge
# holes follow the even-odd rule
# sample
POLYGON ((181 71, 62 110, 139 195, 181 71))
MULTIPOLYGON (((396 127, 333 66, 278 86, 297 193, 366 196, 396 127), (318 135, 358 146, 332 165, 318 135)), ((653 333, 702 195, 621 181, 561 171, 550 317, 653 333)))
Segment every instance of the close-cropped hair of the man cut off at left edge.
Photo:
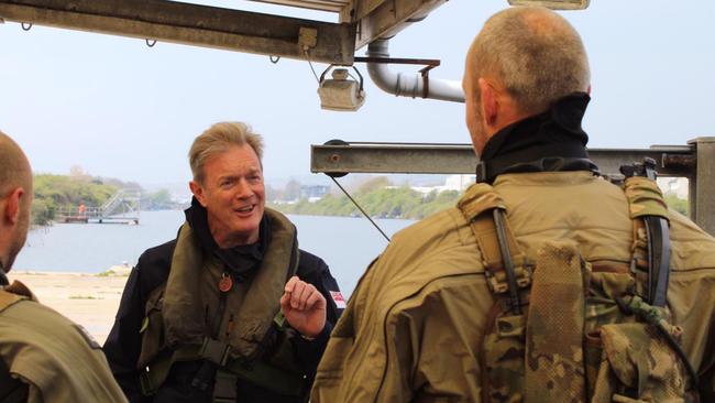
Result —
MULTIPOLYGON (((32 192, 32 170, 28 157, 8 134, 0 131, 0 197, 23 187, 32 192)), ((30 200, 31 198, 25 198, 30 200)))

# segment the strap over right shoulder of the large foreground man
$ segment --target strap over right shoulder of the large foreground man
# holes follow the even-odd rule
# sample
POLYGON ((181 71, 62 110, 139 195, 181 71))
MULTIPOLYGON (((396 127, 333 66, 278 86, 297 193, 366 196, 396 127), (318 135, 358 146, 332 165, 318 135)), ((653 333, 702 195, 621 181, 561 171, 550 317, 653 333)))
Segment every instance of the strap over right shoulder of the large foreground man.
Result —
POLYGON ((668 205, 654 174, 637 175, 627 177, 623 185, 634 222, 631 271, 638 295, 648 304, 662 307, 670 276, 668 205))

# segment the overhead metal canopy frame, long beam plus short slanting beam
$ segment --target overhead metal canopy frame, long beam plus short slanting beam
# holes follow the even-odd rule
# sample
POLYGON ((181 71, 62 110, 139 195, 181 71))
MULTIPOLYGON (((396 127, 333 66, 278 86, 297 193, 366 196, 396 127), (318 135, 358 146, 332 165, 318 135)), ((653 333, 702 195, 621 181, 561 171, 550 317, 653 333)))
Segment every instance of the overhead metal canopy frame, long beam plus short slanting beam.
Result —
POLYGON ((168 0, 0 0, 0 19, 227 51, 352 65, 447 0, 254 0, 336 13, 338 22, 168 0))

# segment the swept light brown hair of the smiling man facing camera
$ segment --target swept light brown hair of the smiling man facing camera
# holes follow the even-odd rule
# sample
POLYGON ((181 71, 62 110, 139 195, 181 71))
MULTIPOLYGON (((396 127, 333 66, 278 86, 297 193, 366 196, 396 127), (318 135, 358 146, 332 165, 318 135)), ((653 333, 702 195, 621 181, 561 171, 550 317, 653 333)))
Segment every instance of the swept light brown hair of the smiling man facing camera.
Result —
POLYGON ((263 138, 254 133, 251 127, 243 122, 219 122, 211 126, 194 140, 189 150, 189 164, 194 181, 204 181, 204 164, 206 161, 230 146, 249 144, 258 156, 263 159, 263 138))

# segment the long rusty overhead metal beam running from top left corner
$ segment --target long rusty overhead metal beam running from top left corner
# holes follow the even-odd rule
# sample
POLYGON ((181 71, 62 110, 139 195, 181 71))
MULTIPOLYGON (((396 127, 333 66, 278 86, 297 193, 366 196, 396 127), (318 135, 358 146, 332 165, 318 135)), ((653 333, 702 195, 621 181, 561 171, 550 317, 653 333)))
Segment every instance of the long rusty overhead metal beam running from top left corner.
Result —
POLYGON ((350 65, 355 25, 166 0, 0 0, 8 21, 350 65))

